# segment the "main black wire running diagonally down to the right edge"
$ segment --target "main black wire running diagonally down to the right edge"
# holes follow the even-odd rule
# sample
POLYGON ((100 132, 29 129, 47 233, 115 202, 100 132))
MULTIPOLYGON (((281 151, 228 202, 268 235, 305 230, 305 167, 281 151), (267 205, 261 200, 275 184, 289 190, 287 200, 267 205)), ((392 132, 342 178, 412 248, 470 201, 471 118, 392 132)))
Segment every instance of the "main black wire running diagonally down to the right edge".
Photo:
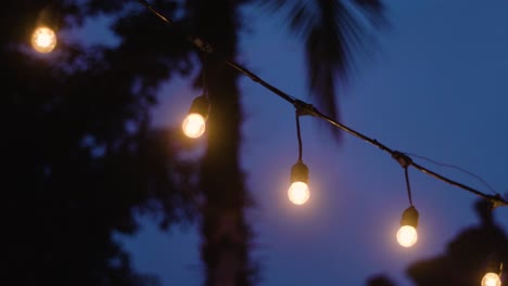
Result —
MULTIPOLYGON (((164 15, 162 15, 160 12, 157 12, 153 6, 151 6, 147 1, 144 0, 138 0, 138 2, 140 2, 142 5, 144 5, 150 12, 152 12, 155 16, 157 16, 158 18, 161 18, 163 22, 165 22, 166 24, 169 24, 170 26, 174 26, 175 24, 168 20, 167 17, 165 17, 164 15)), ((193 36, 193 35, 189 35, 188 36, 188 40, 194 44, 194 47, 196 49, 199 49, 200 51, 211 55, 211 54, 214 54, 214 49, 213 47, 207 43, 206 41, 204 41, 203 39, 201 39, 200 37, 196 37, 196 36, 193 36)), ((214 54, 216 56, 218 56, 217 54, 214 54)), ((265 80, 263 80, 262 78, 259 78, 258 76, 256 76, 254 73, 252 73, 251 70, 249 70, 246 67, 233 62, 233 61, 230 61, 228 58, 221 58, 227 65, 231 66, 232 68, 237 69, 238 72, 242 73, 243 75, 247 76, 250 79, 252 79, 253 81, 257 82, 258 84, 263 86, 264 88, 268 89, 269 91, 271 91, 274 94, 278 95, 279 98, 283 99, 284 101, 291 103, 293 106, 295 106, 301 113, 305 114, 305 115, 312 115, 312 116, 315 116, 315 117, 318 117, 325 121, 328 121, 329 123, 331 123, 332 126, 336 127, 336 128, 340 128, 341 130, 356 136, 356 138, 359 138, 364 141, 366 141, 367 143, 370 143, 372 145, 374 145, 376 147, 389 153, 392 157, 394 157, 394 155, 397 155, 399 154, 399 152, 397 151, 394 151, 394 150, 391 150, 389 148, 388 146, 385 146, 384 144, 378 142, 376 139, 371 139, 367 135, 364 135, 363 133, 343 125, 343 123, 340 123, 338 121, 335 121, 334 119, 332 119, 331 117, 322 114, 321 112, 319 112, 316 107, 314 107, 312 104, 308 104, 308 103, 305 103, 296 98, 293 98, 289 94, 287 94, 285 92, 279 90, 278 88, 271 86, 270 83, 266 82, 265 80)), ((454 186, 457 186, 459 188, 462 188, 463 191, 467 191, 469 193, 472 193, 479 197, 482 197, 486 200, 490 200, 491 203, 493 203, 493 205, 495 207, 499 207, 499 206, 508 206, 508 202, 506 199, 504 199, 499 194, 496 194, 496 195, 488 195, 488 194, 485 194, 485 193, 482 193, 471 186, 468 186, 468 185, 465 185, 465 184, 461 184, 459 182, 456 182, 452 179, 448 179, 440 173, 436 173, 423 166, 420 166, 416 162, 414 162, 412 160, 410 161, 409 166, 412 166, 414 168, 418 169, 419 171, 430 176, 430 177, 433 177, 437 180, 441 180, 445 183, 448 183, 450 185, 454 185, 454 186)))

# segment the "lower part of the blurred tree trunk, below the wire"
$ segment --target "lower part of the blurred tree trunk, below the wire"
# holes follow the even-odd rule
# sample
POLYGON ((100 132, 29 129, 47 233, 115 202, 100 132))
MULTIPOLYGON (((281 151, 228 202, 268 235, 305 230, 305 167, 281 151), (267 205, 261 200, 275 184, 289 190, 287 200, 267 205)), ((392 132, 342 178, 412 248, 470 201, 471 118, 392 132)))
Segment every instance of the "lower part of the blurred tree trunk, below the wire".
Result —
POLYGON ((236 76, 224 64, 211 63, 209 95, 214 116, 208 122, 208 147, 203 158, 201 186, 205 194, 202 258, 205 285, 251 285, 250 230, 245 222, 247 191, 240 168, 239 94, 236 76), (220 84, 221 83, 221 84, 220 84))

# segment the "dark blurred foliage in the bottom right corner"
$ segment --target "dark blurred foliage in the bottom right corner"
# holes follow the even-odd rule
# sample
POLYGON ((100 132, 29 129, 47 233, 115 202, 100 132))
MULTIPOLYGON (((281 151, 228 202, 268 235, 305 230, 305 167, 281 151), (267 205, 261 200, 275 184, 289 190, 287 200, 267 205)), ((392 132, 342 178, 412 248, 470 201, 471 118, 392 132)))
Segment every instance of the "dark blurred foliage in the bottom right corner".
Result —
MULTIPOLYGON (((501 262, 506 264, 508 236, 495 223, 491 207, 485 200, 477 202, 480 225, 459 233, 443 255, 417 261, 407 269, 415 285, 479 286, 483 275, 491 271, 490 266, 499 268, 501 262)), ((384 280, 388 281, 386 277, 376 276, 369 280, 368 285, 395 285, 382 284, 384 280)))

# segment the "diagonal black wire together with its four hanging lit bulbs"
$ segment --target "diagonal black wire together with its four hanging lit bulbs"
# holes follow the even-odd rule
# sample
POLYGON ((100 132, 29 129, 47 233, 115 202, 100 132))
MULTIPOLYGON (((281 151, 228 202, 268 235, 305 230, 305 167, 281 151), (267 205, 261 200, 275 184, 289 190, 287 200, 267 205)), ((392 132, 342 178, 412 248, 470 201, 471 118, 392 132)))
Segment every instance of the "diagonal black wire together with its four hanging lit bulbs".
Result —
MULTIPOLYGON (((174 23, 169 18, 165 17, 160 12, 157 12, 145 0, 138 0, 138 2, 143 4, 150 12, 152 12, 155 16, 161 18, 164 23, 168 25, 174 25, 174 23)), ((192 44, 194 44, 196 49, 199 49, 203 53, 205 54, 214 53, 214 49, 212 48, 212 46, 207 43, 206 41, 204 41, 203 39, 193 35, 190 35, 188 39, 191 41, 192 44)), ((229 65, 237 72, 240 72, 241 74, 251 78, 253 81, 259 83, 264 88, 270 90, 274 94, 278 95, 279 98, 283 99, 284 101, 291 103, 293 106, 296 107, 296 110, 297 110, 296 125, 297 125, 297 134, 299 134, 300 156, 299 156, 299 161, 291 169, 291 187, 288 192, 290 200, 293 202, 294 204, 297 204, 297 205, 305 204, 305 202, 307 202, 309 198, 309 192, 308 192, 308 185, 307 185, 308 168, 302 161, 302 141, 301 141, 301 135, 300 135, 300 121, 299 121, 299 113, 300 113, 300 114, 305 114, 305 115, 312 115, 314 117, 322 119, 331 123, 332 126, 340 128, 341 130, 356 138, 359 138, 366 141, 367 143, 370 143, 371 145, 380 148, 381 151, 389 153, 393 158, 395 158, 404 167, 407 191, 408 191, 409 203, 410 203, 410 207, 408 207, 403 212, 402 220, 401 220, 401 229, 397 232, 397 240, 404 247, 410 247, 415 245, 415 243, 418 240, 417 226, 418 226, 419 213, 411 202, 411 193, 410 193, 408 172, 407 172, 407 169, 410 166, 428 176, 433 177, 434 179, 437 179, 450 185, 457 186, 460 190, 472 193, 479 197, 482 197, 491 202, 493 204, 493 208, 499 207, 499 206, 508 206, 508 202, 504 199, 499 194, 488 195, 488 194, 482 193, 473 187, 456 182, 423 166, 420 166, 419 164, 416 164, 415 161, 412 161, 412 159, 407 154, 403 154, 397 151, 394 151, 388 147, 386 145, 380 143, 379 141, 372 138, 369 138, 343 123, 335 121, 333 118, 319 112, 312 104, 305 103, 296 98, 293 98, 284 93, 283 91, 266 82, 265 80, 256 76, 254 73, 243 67, 242 65, 239 65, 238 63, 232 62, 227 58, 223 58, 223 60, 227 65, 229 65)), ((208 115, 208 108, 209 108, 209 104, 208 104, 207 98, 200 96, 193 101, 189 115, 186 118, 186 120, 183 120, 183 123, 182 123, 183 132, 191 138, 198 138, 203 134, 205 130, 205 121, 208 115)), ((501 268, 503 268, 503 264, 501 264, 501 268)), ((500 286, 500 283, 501 283, 500 274, 496 274, 496 272, 487 272, 482 280, 482 286, 500 286)))

